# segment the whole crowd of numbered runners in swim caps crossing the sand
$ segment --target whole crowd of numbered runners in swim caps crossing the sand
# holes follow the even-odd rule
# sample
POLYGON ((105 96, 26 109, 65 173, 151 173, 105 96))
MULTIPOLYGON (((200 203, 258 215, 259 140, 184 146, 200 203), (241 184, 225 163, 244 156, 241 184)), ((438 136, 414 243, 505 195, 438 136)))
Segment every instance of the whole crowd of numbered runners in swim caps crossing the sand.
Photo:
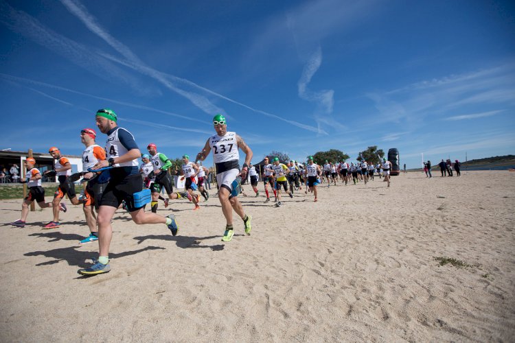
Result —
POLYGON ((113 215, 117 209, 124 209, 136 224, 161 224, 177 235, 179 224, 173 214, 158 215, 159 201, 168 208, 170 200, 187 199, 192 202, 194 210, 201 209, 201 196, 209 199, 205 187, 209 169, 202 165, 209 154, 213 154, 215 163, 218 200, 226 226, 222 241, 231 241, 234 235, 233 211, 241 218, 243 230, 251 233, 251 215, 247 215, 238 195, 247 196, 241 185, 249 182, 255 196, 259 178, 264 182, 265 202, 271 201, 274 206, 282 206, 283 195, 294 197, 295 192, 304 191, 312 194, 314 202, 319 199, 318 187, 330 187, 339 182, 343 185, 367 184, 375 176, 384 176, 387 187, 390 186, 389 171, 391 163, 383 159, 378 165, 367 164, 367 161, 356 161, 350 165, 346 161, 325 161, 319 165, 313 156, 308 156, 306 163, 290 161, 281 163, 279 158, 264 158, 263 165, 256 169, 251 163, 253 152, 236 132, 227 131, 227 121, 223 115, 213 119, 216 134, 205 142, 201 152, 196 154, 195 162, 190 156, 183 155, 181 181, 184 191, 174 191, 169 169, 172 161, 158 152, 155 143, 147 145, 147 151, 141 152, 135 137, 128 130, 117 126, 117 115, 113 110, 101 109, 95 113, 95 123, 102 134, 106 134, 104 147, 98 145, 98 134, 92 128, 80 130, 80 141, 84 144, 82 152, 82 171, 72 174, 69 160, 62 156, 58 147, 51 147, 49 154, 55 160, 55 167, 45 171, 45 176, 56 176, 58 187, 52 202, 45 202, 45 189, 41 186, 43 175, 34 167, 34 158, 25 159, 26 176, 22 182, 27 183, 28 196, 23 200, 21 217, 10 224, 24 227, 29 213, 29 206, 36 201, 41 208, 52 207, 52 221, 45 224, 45 229, 60 227, 59 213, 67 211, 62 199, 67 196, 73 205, 82 205, 84 218, 90 233, 80 240, 80 244, 98 241, 99 257, 93 259, 89 268, 78 270, 82 275, 95 275, 109 272, 109 247, 112 238, 113 215), (244 163, 240 168, 240 150, 244 154, 244 163), (84 182, 84 194, 77 196, 75 184, 84 182), (163 196, 161 196, 163 193, 163 196), (148 201, 142 201, 148 195, 148 201), (150 211, 146 204, 150 203, 150 211))

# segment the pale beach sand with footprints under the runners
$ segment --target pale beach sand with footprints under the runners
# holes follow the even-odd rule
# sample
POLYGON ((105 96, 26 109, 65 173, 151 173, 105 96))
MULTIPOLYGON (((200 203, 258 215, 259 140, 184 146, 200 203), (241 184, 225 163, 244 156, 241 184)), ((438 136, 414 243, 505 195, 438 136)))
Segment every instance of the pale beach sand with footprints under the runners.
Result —
MULTIPOLYGON (((0 342, 515 339, 515 173, 412 172, 390 188, 319 187, 317 203, 302 191, 279 209, 264 192, 240 197, 253 229, 236 216, 228 243, 214 193, 199 211, 159 204, 176 237, 117 211, 112 270, 89 278, 77 270, 98 244, 77 244, 89 233, 80 206, 58 229, 41 229, 52 212, 37 206, 25 228, 0 226, 0 342)), ((1 201, 1 222, 20 210, 1 201)))

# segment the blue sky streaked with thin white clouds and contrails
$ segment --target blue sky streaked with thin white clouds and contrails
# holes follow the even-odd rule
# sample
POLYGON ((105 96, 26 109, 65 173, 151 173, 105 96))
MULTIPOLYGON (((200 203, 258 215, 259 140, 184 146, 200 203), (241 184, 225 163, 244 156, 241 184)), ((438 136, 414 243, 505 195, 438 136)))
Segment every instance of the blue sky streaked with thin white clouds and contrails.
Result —
POLYGON ((513 1, 0 0, 0 30, 0 149, 78 155, 112 108, 170 158, 216 113, 255 162, 515 154, 513 1))

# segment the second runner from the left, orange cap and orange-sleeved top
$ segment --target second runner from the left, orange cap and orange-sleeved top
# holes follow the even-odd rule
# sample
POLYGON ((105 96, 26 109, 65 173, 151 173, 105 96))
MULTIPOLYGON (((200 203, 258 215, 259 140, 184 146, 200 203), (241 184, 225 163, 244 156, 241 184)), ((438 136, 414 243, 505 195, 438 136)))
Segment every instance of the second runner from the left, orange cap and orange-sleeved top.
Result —
POLYGON ((71 175, 71 164, 68 158, 61 156, 61 152, 57 147, 51 147, 48 152, 56 160, 54 163, 54 170, 45 171, 46 176, 56 175, 59 181, 59 186, 54 193, 54 200, 52 200, 52 212, 54 213, 54 220, 47 223, 43 228, 58 228, 59 223, 59 211, 66 212, 66 205, 61 204, 61 200, 68 196, 70 202, 74 205, 80 204, 76 193, 75 185, 73 182, 68 180, 71 175))

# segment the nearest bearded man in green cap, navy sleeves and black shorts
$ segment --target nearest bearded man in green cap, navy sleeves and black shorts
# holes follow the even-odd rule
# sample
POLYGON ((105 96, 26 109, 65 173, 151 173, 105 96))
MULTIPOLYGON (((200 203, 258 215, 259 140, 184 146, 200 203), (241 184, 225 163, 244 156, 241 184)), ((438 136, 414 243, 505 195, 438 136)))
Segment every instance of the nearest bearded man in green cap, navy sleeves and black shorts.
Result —
POLYGON ((134 194, 143 189, 143 182, 138 168, 141 152, 133 134, 117 126, 117 115, 108 108, 98 110, 95 121, 100 132, 107 134, 105 148, 107 160, 98 161, 93 165, 93 169, 105 167, 111 167, 111 169, 109 169, 109 182, 100 198, 97 215, 99 257, 98 260, 93 261, 91 267, 78 270, 81 275, 96 275, 111 271, 109 265, 109 246, 113 237, 111 220, 122 201, 126 203, 130 217, 136 224, 166 224, 174 236, 179 231, 174 215, 163 217, 157 213, 145 212, 144 205, 135 202, 134 194))

